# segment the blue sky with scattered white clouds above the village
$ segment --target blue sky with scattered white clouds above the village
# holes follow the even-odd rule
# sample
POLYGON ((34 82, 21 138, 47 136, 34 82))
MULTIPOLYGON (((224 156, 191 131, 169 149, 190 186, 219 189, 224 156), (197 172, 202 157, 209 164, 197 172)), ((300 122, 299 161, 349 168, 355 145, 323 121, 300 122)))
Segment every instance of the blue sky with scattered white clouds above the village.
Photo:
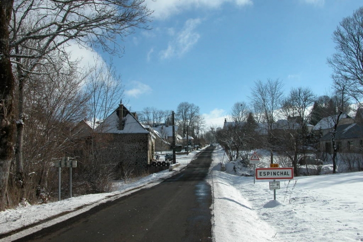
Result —
MULTIPOLYGON (((114 57, 127 107, 199 106, 207 127, 222 125, 254 81, 279 79, 285 93, 332 84, 333 31, 360 0, 146 0, 152 30, 137 29, 114 57)), ((104 59, 108 57, 99 53, 104 59)))

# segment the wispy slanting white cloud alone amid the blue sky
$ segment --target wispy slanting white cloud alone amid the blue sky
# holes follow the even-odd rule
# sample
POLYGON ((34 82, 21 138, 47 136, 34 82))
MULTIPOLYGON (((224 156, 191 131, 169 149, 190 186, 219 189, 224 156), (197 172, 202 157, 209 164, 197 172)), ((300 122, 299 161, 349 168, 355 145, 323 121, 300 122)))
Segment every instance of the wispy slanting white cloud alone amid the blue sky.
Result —
POLYGON ((169 42, 167 49, 160 52, 161 58, 168 59, 175 55, 181 57, 189 51, 200 38, 200 35, 195 31, 200 23, 199 18, 188 19, 179 33, 173 31, 173 34, 175 33, 174 39, 169 42))

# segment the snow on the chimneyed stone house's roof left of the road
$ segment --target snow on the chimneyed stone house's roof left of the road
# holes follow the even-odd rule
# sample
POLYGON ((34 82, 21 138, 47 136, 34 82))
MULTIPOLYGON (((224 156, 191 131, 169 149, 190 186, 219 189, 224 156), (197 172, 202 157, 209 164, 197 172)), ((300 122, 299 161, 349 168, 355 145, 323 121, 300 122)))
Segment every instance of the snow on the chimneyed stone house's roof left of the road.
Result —
POLYGON ((108 116, 104 122, 98 125, 95 132, 99 133, 149 133, 144 126, 135 119, 134 116, 127 114, 125 118, 124 128, 122 130, 118 129, 119 119, 116 111, 108 116))

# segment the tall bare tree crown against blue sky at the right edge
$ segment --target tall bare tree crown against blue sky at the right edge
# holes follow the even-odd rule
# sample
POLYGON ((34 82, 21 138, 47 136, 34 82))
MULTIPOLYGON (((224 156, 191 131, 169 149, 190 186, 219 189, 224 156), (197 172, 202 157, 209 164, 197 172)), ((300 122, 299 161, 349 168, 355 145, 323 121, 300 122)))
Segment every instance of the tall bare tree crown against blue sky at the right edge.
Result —
POLYGON ((336 53, 328 58, 334 85, 344 81, 345 92, 357 102, 363 98, 363 7, 343 18, 333 33, 336 53))

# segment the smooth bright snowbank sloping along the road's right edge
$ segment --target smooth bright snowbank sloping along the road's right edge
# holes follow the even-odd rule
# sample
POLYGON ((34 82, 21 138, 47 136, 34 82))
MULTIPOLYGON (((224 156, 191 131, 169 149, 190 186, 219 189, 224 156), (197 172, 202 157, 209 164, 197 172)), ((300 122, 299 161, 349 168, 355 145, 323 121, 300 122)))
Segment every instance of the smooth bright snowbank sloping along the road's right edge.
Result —
POLYGON ((272 241, 276 232, 235 188, 235 177, 219 171, 212 174, 214 241, 272 241))

